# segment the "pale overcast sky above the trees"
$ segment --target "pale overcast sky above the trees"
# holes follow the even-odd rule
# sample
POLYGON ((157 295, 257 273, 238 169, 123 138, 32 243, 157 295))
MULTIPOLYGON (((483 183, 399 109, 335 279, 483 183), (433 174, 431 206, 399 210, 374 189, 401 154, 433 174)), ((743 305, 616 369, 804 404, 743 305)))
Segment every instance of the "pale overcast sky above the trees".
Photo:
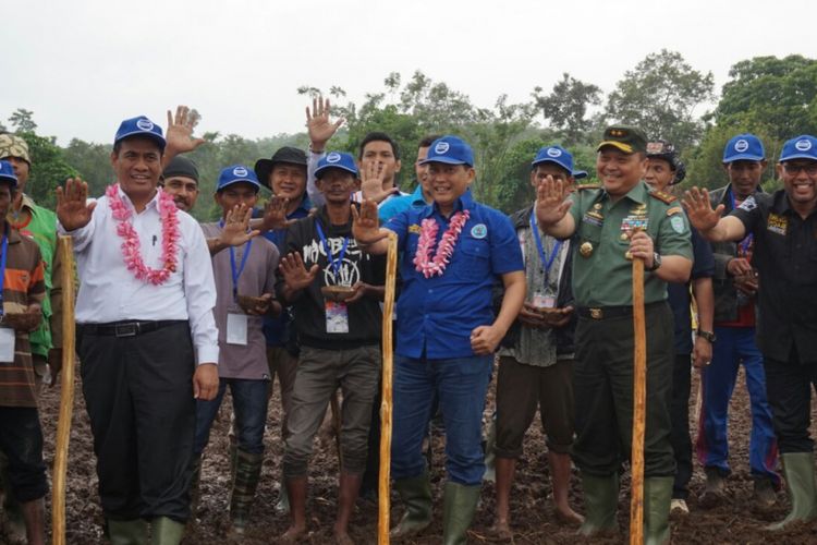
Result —
POLYGON ((0 119, 33 110, 61 145, 111 142, 142 113, 164 125, 178 104, 203 114, 198 132, 298 132, 298 86, 359 101, 390 72, 422 70, 489 107, 562 72, 608 93, 661 48, 711 71, 718 92, 737 61, 817 57, 815 0, 28 0, 4 14, 0 119))

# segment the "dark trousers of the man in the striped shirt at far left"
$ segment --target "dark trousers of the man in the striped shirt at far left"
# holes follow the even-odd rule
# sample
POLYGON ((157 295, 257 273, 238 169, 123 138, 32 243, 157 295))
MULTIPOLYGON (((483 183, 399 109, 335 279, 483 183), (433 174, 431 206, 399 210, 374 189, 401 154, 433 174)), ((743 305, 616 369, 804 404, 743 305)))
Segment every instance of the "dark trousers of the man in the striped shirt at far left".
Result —
POLYGON ((0 407, 0 451, 5 455, 8 479, 14 499, 21 504, 48 492, 42 461, 42 429, 34 407, 0 407))

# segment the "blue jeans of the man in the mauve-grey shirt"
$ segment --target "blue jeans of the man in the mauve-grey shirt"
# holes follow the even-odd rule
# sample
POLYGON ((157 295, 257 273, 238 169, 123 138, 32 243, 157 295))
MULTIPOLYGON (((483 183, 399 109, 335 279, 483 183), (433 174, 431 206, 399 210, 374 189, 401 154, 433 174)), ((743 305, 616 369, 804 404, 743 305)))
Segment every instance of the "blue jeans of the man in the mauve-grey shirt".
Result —
POLYGON ((235 411, 235 432, 239 436, 239 448, 251 455, 264 452, 264 426, 267 423, 267 401, 269 384, 267 380, 244 378, 219 379, 219 392, 210 401, 196 401, 196 439, 193 452, 200 455, 210 439, 210 426, 224 399, 227 385, 233 396, 235 411))

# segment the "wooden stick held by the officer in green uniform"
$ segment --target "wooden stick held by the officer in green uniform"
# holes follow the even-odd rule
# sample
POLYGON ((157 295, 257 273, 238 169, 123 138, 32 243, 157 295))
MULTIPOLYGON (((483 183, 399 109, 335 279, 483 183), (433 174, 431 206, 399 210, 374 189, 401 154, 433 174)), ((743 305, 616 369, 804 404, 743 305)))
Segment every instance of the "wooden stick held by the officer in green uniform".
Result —
POLYGON ((647 331, 644 315, 644 259, 633 259, 633 450, 630 455, 632 486, 630 499, 630 544, 644 543, 644 426, 647 400, 647 331))

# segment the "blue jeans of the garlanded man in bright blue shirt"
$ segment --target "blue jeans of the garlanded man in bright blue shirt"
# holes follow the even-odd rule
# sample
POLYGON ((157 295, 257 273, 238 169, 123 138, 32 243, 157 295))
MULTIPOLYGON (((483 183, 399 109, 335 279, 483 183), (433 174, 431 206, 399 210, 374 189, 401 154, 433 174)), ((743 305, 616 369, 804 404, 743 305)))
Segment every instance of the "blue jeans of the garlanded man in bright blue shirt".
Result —
POLYGON ((425 470, 423 437, 436 397, 446 424, 449 481, 466 486, 481 483, 483 411, 492 365, 492 355, 451 360, 395 358, 391 441, 391 473, 395 480, 415 477, 425 470))

